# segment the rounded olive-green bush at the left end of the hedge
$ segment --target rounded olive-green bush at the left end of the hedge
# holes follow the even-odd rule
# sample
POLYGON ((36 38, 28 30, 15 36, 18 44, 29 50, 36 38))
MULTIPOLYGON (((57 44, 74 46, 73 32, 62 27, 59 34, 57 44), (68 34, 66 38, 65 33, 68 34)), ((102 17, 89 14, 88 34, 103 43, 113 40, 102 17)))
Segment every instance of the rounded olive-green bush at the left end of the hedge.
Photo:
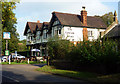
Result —
POLYGON ((55 36, 48 41, 48 53, 52 59, 66 59, 66 55, 70 52, 72 44, 67 40, 60 40, 55 36))

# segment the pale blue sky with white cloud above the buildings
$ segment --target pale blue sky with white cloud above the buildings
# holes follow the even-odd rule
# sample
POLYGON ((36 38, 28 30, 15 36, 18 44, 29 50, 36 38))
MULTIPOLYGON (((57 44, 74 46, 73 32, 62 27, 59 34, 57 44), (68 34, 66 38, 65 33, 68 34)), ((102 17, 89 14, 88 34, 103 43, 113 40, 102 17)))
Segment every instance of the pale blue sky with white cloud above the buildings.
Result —
MULTIPOLYGON (((14 13, 17 18, 17 32, 20 40, 26 39, 23 35, 27 22, 49 22, 52 12, 80 14, 82 6, 86 7, 88 16, 104 15, 116 10, 118 14, 119 0, 22 0, 16 4, 14 13)), ((119 13, 120 14, 120 13, 119 13)))

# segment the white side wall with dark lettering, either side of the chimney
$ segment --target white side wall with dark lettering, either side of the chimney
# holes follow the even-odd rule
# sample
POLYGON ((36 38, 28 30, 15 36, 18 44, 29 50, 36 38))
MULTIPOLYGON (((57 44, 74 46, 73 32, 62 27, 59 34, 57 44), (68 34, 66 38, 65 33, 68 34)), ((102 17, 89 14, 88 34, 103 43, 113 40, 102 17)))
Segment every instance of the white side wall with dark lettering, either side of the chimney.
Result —
MULTIPOLYGON (((88 31, 92 31, 92 37, 88 37, 88 40, 97 40, 100 36, 100 32, 104 32, 105 29, 87 28, 88 31)), ((63 39, 70 41, 83 41, 83 28, 82 27, 63 27, 61 30, 61 36, 63 39)))

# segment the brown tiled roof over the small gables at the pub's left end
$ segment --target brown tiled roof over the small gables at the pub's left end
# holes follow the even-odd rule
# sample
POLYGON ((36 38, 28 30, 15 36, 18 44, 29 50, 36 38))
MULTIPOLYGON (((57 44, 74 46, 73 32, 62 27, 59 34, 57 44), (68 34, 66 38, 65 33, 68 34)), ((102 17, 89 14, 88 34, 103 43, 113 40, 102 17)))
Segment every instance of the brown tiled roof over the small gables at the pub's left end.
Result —
POLYGON ((24 35, 27 34, 27 30, 30 29, 31 33, 34 33, 36 31, 36 28, 39 28, 39 30, 42 27, 42 23, 37 23, 37 22, 27 22, 24 35))

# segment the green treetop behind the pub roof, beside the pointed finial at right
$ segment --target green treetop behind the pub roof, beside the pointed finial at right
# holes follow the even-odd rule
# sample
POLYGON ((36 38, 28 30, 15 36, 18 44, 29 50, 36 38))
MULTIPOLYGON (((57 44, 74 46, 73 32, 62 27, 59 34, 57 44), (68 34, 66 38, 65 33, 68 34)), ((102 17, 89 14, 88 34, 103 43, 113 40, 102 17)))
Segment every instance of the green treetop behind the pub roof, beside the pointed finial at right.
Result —
POLYGON ((114 15, 112 12, 104 14, 103 16, 101 16, 101 18, 107 26, 111 25, 114 21, 114 15))

